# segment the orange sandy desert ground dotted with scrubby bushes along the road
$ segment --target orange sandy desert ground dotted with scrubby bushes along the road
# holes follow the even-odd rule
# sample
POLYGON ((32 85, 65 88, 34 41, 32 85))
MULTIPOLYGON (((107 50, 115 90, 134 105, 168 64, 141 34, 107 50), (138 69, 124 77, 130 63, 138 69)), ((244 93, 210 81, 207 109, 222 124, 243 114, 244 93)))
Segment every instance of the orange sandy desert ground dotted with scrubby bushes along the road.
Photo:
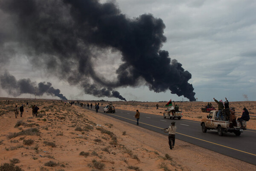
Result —
MULTIPOLYGON (((4 163, 16 161, 15 165, 24 171, 256 170, 255 165, 177 139, 175 148, 169 150, 167 135, 84 107, 64 105, 61 101, 52 100, 28 102, 29 106, 24 107, 23 117, 15 119, 13 107, 15 104, 20 106, 25 101, 11 100, 9 104, 7 101, 0 101, 1 167, 4 163), (35 103, 40 108, 38 117, 32 117, 30 108, 35 103)), ((140 107, 139 110, 145 113, 150 113, 147 110, 152 113, 160 111, 156 112, 154 106, 149 104, 151 109, 144 110, 146 106, 143 105, 145 104, 116 103, 116 107, 126 110, 140 107)), ((184 108, 185 105, 183 111, 184 108)), ((193 117, 194 115, 195 113, 193 117)))

